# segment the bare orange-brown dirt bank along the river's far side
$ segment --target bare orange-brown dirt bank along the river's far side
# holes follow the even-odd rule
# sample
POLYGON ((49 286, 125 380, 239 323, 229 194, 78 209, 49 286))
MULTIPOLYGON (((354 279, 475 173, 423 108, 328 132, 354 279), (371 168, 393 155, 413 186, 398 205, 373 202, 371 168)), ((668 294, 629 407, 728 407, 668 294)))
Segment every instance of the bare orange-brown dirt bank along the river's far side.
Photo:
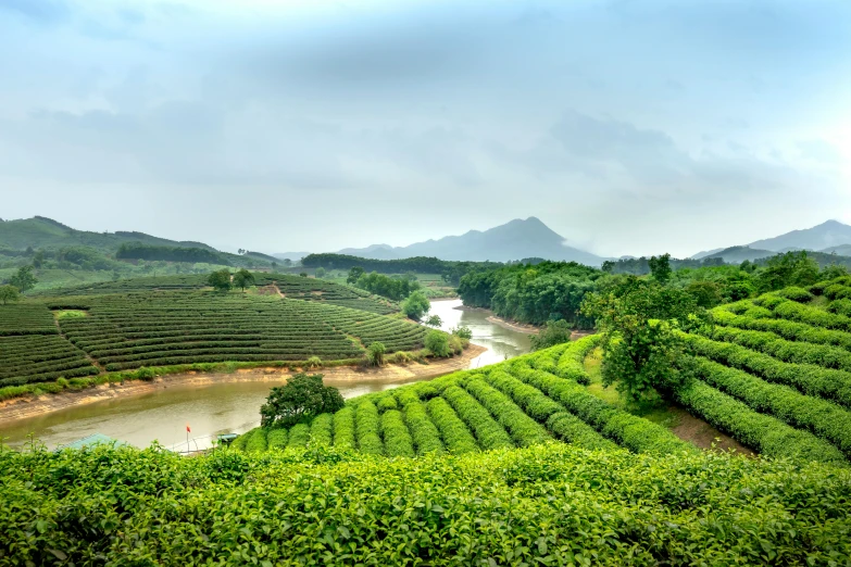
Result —
MULTIPOLYGON (((463 370, 470 367, 470 362, 485 352, 487 349, 477 344, 471 344, 461 355, 452 358, 429 361, 429 364, 411 363, 404 366, 387 365, 381 368, 360 368, 354 366, 338 366, 316 370, 334 382, 385 382, 410 381, 412 378, 436 378, 445 374, 463 370)), ((147 382, 134 380, 124 385, 101 385, 76 392, 65 391, 58 394, 46 394, 39 398, 15 398, 0 402, 0 424, 7 424, 16 419, 35 417, 58 410, 87 405, 104 400, 114 400, 138 395, 168 388, 174 385, 204 386, 214 382, 242 382, 242 381, 279 381, 283 377, 291 375, 285 368, 252 368, 237 370, 233 374, 200 374, 186 373, 163 376, 147 382)))

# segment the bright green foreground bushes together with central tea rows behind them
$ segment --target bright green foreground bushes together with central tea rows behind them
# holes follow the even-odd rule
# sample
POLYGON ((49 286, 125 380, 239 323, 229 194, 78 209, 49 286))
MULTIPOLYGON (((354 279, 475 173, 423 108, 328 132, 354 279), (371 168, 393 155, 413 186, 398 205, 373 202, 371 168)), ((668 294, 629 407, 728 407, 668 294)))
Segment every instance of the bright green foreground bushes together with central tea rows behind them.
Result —
POLYGON ((580 361, 593 344, 361 396, 193 458, 158 446, 0 448, 0 556, 17 565, 851 560, 844 462, 698 451, 586 391, 580 361))

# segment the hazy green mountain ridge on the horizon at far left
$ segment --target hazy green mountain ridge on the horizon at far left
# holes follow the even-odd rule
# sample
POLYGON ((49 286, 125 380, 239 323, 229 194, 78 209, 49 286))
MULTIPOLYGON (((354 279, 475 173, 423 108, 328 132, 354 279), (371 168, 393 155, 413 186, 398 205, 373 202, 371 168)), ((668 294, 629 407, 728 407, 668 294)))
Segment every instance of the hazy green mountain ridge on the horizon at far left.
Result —
POLYGON ((145 232, 89 232, 76 230, 62 223, 43 216, 0 222, 0 247, 13 250, 59 249, 62 247, 86 245, 114 252, 125 242, 142 242, 161 247, 202 248, 215 251, 201 242, 168 240, 152 237, 145 232))

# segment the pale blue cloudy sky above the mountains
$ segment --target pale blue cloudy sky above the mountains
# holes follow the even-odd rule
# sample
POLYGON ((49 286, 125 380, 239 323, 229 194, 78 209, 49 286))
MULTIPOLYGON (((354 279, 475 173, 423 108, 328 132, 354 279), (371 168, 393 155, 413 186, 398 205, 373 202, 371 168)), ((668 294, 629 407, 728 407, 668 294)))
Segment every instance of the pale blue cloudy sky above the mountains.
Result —
POLYGON ((266 253, 851 223, 844 0, 0 0, 0 217, 266 253))

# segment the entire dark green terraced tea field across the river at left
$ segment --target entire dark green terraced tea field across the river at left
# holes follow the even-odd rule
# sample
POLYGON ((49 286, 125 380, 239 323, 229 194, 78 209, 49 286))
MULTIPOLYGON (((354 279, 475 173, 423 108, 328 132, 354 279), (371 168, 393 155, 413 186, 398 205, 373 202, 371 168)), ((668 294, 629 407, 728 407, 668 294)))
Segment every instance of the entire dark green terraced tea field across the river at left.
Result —
POLYGON ((45 298, 0 310, 0 386, 140 367, 350 361, 383 342, 423 348, 406 319, 328 304, 208 290, 45 298), (54 320, 51 310, 77 310, 54 320))

